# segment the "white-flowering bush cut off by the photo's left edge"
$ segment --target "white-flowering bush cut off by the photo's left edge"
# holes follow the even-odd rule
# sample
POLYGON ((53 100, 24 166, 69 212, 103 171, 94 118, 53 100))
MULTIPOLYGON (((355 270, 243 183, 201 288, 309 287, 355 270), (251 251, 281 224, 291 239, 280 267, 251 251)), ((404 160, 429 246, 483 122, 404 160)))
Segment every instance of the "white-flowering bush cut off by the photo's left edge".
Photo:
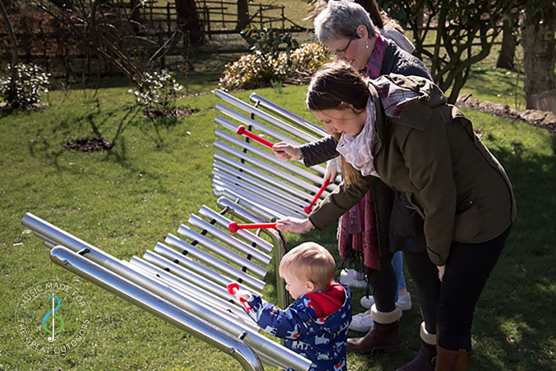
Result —
POLYGON ((16 77, 12 82, 12 68, 8 65, 5 76, 0 77, 0 96, 15 110, 24 110, 41 101, 41 93, 48 92, 48 73, 37 65, 16 65, 16 77))

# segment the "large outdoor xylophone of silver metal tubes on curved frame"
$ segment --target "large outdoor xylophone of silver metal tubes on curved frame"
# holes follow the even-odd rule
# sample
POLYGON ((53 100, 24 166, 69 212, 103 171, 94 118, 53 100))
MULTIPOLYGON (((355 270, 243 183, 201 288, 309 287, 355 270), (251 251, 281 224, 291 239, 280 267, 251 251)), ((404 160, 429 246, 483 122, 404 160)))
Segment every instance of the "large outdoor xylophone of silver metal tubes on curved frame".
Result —
MULTIPOLYGON (((262 370, 264 363, 307 370, 309 360, 259 334, 242 309, 245 303, 231 293, 239 288, 261 293, 269 254, 274 255, 277 271, 286 251, 284 236, 275 229, 276 219, 306 217, 335 186, 321 186, 322 166, 307 169, 276 159, 267 149, 272 142, 262 136, 300 144, 325 132, 256 94, 251 95, 255 106, 225 92, 216 95, 234 107, 217 103, 217 110, 241 124, 238 130, 238 123, 215 118, 223 130, 216 130, 212 185, 221 211, 202 205, 198 215, 188 218, 188 225, 178 227, 177 235, 168 234, 163 243, 129 261, 30 213, 22 222, 44 241, 54 263, 230 354, 243 369, 262 370), (229 286, 231 282, 235 284, 229 286)), ((289 298, 284 281, 278 275, 276 279, 277 305, 285 308, 289 298)))

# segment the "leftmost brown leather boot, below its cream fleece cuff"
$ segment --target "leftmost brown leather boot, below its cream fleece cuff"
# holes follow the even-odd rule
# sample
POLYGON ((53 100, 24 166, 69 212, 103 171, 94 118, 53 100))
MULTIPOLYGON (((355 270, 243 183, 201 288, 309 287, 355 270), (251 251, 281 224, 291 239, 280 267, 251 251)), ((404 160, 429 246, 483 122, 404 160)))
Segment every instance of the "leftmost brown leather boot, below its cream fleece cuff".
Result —
POLYGON ((360 353, 398 353, 401 350, 398 320, 386 324, 375 322, 363 338, 347 339, 347 350, 360 353))

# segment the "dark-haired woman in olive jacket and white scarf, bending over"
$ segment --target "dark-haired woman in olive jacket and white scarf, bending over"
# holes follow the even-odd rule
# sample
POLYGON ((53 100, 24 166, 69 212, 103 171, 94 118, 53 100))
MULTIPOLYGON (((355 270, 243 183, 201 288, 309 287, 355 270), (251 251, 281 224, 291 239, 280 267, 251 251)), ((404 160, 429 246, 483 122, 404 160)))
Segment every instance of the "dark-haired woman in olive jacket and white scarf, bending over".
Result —
POLYGON ((302 231, 314 215, 341 215, 378 179, 403 192, 424 219, 429 259, 441 280, 435 369, 469 369, 475 304, 516 213, 503 167, 463 113, 423 78, 371 82, 335 63, 311 81, 307 106, 328 132, 340 133, 337 150, 350 164, 344 171, 351 181, 309 219, 281 220, 279 229, 302 231))

